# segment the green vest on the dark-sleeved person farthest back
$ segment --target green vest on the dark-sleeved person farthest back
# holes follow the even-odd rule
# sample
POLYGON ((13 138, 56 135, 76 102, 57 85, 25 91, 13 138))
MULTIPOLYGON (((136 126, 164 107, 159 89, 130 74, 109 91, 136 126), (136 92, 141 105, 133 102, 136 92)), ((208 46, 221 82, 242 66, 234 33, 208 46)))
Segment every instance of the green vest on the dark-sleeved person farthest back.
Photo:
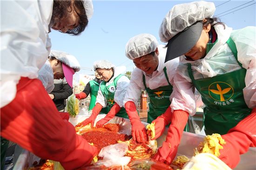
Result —
MULTIPOLYGON (((96 102, 96 98, 97 98, 97 95, 98 95, 100 84, 95 80, 89 81, 89 84, 90 84, 90 88, 91 88, 91 92, 90 92, 91 100, 90 100, 90 105, 89 105, 89 111, 90 111, 95 106, 95 102, 96 102)), ((101 109, 100 114, 107 114, 107 113, 108 113, 107 108, 102 108, 101 109)))

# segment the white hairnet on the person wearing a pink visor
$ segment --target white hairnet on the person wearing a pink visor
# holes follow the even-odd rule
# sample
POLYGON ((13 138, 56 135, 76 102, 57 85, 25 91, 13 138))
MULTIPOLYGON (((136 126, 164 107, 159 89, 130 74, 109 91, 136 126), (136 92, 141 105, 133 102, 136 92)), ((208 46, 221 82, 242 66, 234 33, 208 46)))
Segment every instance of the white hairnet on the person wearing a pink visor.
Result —
POLYGON ((73 55, 68 54, 67 52, 51 50, 49 57, 55 57, 56 59, 68 65, 69 67, 73 68, 75 72, 80 71, 81 66, 77 59, 73 55))

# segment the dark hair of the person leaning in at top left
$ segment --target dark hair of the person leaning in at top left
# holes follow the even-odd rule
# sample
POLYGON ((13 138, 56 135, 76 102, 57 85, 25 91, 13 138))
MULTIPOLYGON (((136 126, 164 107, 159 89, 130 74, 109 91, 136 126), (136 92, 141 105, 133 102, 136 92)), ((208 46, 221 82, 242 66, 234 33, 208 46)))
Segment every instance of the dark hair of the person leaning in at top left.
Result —
POLYGON ((88 18, 82 0, 74 0, 74 3, 72 3, 71 0, 54 0, 52 18, 54 21, 57 21, 67 17, 68 13, 72 11, 72 5, 74 6, 74 10, 78 15, 79 24, 74 29, 67 30, 66 33, 80 35, 88 25, 88 18))

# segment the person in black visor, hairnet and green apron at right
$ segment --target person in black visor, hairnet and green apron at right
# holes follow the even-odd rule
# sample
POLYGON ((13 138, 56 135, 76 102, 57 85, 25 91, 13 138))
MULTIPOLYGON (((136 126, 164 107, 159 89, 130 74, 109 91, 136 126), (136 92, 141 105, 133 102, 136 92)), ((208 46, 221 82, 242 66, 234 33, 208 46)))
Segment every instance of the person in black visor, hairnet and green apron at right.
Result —
MULTIPOLYGON (((180 58, 171 107, 195 112, 196 88, 205 105, 205 132, 222 135, 219 158, 233 169, 240 154, 256 146, 256 28, 232 30, 213 17, 215 9, 206 1, 175 5, 159 35, 168 42, 165 61, 180 58)), ((181 134, 168 131, 156 160, 171 163, 179 145, 172 139, 181 134)))

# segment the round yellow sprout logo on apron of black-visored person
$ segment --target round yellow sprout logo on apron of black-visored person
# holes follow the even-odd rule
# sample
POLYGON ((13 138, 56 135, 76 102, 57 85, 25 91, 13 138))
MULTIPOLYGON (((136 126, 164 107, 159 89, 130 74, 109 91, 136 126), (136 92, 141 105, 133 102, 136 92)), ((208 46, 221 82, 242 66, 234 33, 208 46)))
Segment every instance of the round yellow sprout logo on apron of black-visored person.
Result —
POLYGON ((209 85, 209 95, 216 101, 223 102, 229 100, 233 94, 233 87, 225 82, 214 82, 209 85))

